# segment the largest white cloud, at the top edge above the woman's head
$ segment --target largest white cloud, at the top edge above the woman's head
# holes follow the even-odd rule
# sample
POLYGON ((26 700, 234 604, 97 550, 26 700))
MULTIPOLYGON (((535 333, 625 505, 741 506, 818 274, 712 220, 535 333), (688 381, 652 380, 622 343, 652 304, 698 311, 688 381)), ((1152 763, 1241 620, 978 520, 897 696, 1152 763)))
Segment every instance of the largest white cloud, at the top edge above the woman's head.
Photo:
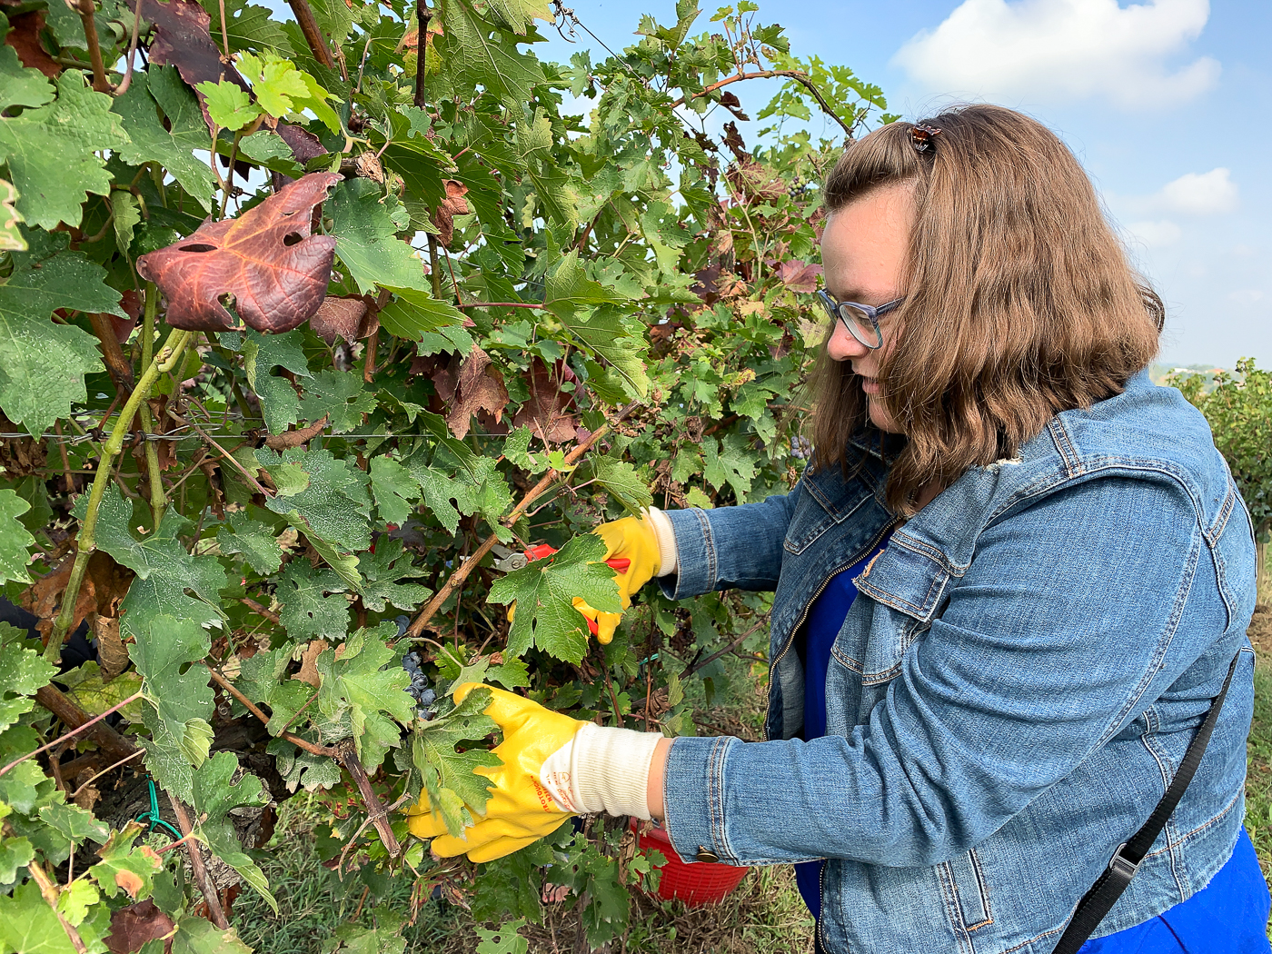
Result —
POLYGON ((1220 65, 1168 57, 1196 39, 1208 0, 964 0, 893 62, 932 92, 1049 100, 1107 97, 1123 108, 1165 107, 1210 89, 1220 65))

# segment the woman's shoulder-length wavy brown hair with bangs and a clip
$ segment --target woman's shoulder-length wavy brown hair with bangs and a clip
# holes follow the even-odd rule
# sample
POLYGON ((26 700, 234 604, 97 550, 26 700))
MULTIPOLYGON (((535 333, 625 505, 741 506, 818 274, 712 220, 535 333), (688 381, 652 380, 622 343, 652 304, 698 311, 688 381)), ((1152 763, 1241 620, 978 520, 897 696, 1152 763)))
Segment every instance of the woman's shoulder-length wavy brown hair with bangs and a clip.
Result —
MULTIPOLYGON (((967 106, 894 122, 852 144, 827 177, 834 212, 908 184, 915 228, 887 319, 881 399, 904 432, 888 505, 1015 457, 1061 411, 1121 393, 1158 351, 1164 309, 1105 221, 1086 173, 1048 128, 1011 109, 967 106), (921 148, 925 146, 925 148, 921 148)), ((847 466, 869 420, 847 361, 814 373, 815 467, 847 466)))

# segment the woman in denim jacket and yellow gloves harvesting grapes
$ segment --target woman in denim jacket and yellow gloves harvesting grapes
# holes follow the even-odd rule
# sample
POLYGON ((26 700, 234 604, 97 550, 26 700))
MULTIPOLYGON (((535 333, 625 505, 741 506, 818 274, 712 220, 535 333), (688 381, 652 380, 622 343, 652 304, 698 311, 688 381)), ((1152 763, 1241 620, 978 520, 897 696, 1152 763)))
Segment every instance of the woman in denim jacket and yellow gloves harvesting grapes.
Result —
POLYGON ((569 813, 654 817, 686 860, 798 862, 826 951, 1049 954, 1231 669, 1085 950, 1266 951, 1250 523, 1205 420, 1147 379, 1160 303, 1090 182, 1037 122, 974 106, 854 144, 824 201, 812 467, 784 497, 598 530, 632 560, 625 594, 776 591, 771 740, 495 691, 486 817, 413 829, 487 860, 569 813))

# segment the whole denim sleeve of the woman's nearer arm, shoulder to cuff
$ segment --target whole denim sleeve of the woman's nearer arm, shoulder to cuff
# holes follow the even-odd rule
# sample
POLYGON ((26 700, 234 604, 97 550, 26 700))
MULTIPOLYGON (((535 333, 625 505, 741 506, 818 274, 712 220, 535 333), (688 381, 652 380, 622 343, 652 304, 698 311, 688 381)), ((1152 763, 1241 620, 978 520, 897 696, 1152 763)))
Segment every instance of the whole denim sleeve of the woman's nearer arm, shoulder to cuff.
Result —
POLYGON ((846 736, 675 739, 668 832, 691 860, 940 864, 1074 772, 1216 640, 1226 669, 1238 630, 1182 488, 1109 477, 1058 491, 982 533, 943 616, 846 736))

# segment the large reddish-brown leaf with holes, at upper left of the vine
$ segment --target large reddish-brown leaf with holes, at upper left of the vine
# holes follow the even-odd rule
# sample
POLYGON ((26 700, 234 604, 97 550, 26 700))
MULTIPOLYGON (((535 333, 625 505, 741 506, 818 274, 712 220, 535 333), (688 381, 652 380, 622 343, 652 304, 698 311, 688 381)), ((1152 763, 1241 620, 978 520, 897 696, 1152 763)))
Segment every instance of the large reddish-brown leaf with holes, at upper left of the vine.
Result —
POLYGON ((230 329, 226 295, 257 331, 282 333, 313 315, 331 280, 336 238, 312 235, 309 212, 340 179, 310 173, 237 219, 209 219, 190 238, 141 256, 137 272, 167 296, 168 324, 230 329))

